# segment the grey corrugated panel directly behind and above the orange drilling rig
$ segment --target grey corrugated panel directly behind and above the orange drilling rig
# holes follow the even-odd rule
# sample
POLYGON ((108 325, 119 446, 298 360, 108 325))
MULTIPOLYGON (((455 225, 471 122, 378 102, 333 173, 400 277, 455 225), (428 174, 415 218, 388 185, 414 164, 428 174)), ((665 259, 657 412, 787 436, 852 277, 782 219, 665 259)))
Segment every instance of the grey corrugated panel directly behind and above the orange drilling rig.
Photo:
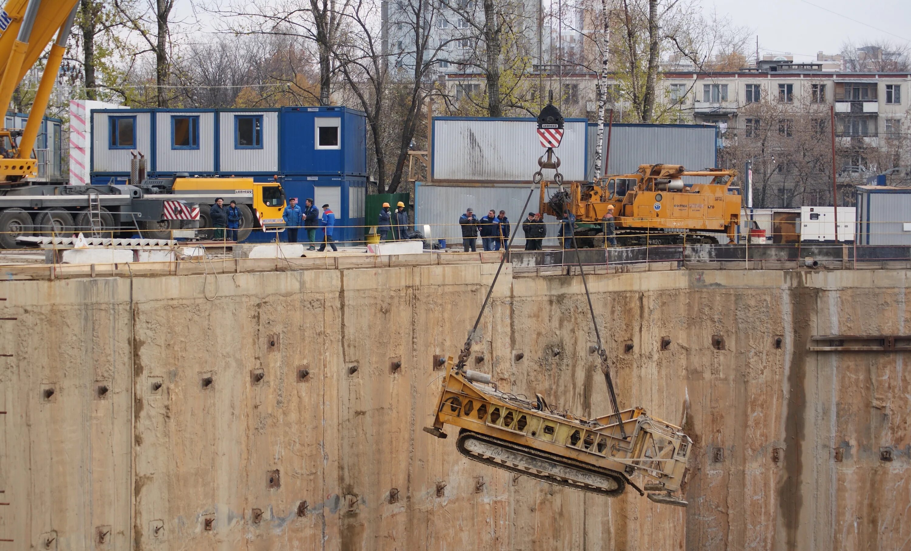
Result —
MULTIPOLYGON (((690 170, 714 168, 717 163, 715 130, 714 126, 698 125, 615 124, 610 129, 609 167, 602 169, 601 174, 632 174, 640 165, 659 163, 683 165, 690 170)), ((589 168, 586 173, 589 180, 595 175, 597 136, 598 125, 589 124, 589 168)), ((607 148, 607 125, 603 139, 607 148)))

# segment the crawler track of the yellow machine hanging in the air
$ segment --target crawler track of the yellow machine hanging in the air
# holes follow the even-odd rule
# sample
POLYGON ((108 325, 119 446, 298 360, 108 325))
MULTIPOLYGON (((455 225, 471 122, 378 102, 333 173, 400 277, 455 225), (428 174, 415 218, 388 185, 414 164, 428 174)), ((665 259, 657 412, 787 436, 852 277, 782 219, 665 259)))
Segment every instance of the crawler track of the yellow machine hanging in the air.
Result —
POLYGON ((611 497, 622 494, 626 489, 626 477, 617 471, 548 454, 486 434, 463 429, 459 432, 455 445, 459 453, 468 459, 549 484, 611 497))

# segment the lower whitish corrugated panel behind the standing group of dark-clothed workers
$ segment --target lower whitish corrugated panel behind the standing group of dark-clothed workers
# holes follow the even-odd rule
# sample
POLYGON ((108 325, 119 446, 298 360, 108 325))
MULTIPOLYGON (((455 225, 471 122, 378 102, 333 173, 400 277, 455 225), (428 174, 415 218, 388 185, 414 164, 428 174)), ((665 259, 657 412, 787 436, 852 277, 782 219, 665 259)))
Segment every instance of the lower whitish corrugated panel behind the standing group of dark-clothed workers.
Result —
MULTIPOLYGON (((510 231, 518 231, 513 246, 525 246, 525 233, 522 231, 522 222, 529 212, 538 212, 540 192, 534 188, 531 200, 525 211, 522 206, 528 199, 528 186, 437 186, 433 184, 420 184, 415 186, 415 225, 418 229, 424 224, 430 224, 434 240, 444 239, 447 245, 462 242, 462 228, 458 219, 469 207, 475 210, 477 219, 487 214, 487 210, 494 209, 499 214, 500 210, 507 211, 510 231)), ((548 224, 548 239, 545 245, 558 245, 556 239, 559 227, 557 219, 545 216, 548 224)), ((481 240, 477 240, 478 247, 481 240)))

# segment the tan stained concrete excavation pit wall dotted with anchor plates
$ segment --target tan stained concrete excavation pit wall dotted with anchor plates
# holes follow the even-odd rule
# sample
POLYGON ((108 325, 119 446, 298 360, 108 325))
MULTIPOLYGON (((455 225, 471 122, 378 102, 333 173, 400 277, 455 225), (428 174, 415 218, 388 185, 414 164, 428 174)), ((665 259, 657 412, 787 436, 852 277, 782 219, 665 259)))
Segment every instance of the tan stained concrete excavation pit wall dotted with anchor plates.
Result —
MULTIPOLYGON (((496 264, 109 268, 121 275, 0 284, 12 354, 0 538, 15 540, 0 546, 897 549, 911 537, 908 352, 807 350, 814 335, 906 333, 908 270, 589 276, 620 406, 678 423, 689 396, 683 509, 514 477, 460 456, 455 434, 422 432, 442 382, 433 357, 456 355, 496 264)), ((507 264, 472 368, 607 413, 594 342, 578 276, 507 264)))

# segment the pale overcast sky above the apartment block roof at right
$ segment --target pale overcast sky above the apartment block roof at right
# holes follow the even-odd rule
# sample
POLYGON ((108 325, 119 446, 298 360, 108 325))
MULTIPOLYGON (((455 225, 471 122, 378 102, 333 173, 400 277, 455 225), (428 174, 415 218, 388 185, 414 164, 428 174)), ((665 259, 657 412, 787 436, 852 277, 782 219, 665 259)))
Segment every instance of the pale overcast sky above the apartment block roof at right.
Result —
POLYGON ((759 36, 760 55, 790 52, 794 59, 803 61, 815 59, 820 50, 836 54, 845 40, 857 44, 886 39, 905 46, 911 44, 909 0, 701 0, 701 3, 706 14, 714 9, 719 14, 731 15, 735 25, 749 27, 753 36, 759 36))

